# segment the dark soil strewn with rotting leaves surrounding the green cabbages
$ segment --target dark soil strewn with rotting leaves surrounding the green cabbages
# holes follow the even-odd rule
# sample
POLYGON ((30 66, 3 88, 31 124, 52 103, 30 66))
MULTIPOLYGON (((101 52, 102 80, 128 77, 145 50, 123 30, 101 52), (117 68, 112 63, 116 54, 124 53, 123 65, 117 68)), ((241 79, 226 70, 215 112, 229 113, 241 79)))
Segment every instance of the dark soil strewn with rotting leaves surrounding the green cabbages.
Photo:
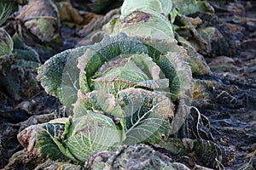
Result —
MULTIPOLYGON (((102 26, 119 16, 122 1, 13 0, 9 3, 16 5, 16 12, 3 23, 1 29, 4 31, 0 30, 0 43, 8 41, 5 31, 14 43, 11 57, 0 56, 0 168, 55 169, 54 161, 36 154, 26 157, 25 152, 34 149, 36 139, 32 137, 42 128, 42 123, 70 116, 73 111, 45 92, 37 79, 38 66, 66 49, 100 42, 102 26), (22 4, 19 10, 18 3, 22 4), (43 20, 41 25, 38 20, 43 20), (24 129, 26 132, 22 131, 24 129)), ((211 167, 212 162, 200 153, 196 144, 223 151, 215 145, 220 144, 232 150, 230 153, 234 158, 222 155, 227 161, 218 168, 256 169, 256 2, 207 0, 207 3, 214 8, 214 14, 196 12, 186 17, 177 16, 173 22, 177 26, 175 38, 178 45, 189 48, 188 54, 192 56, 188 62, 193 73, 194 109, 190 111, 189 124, 184 125, 190 132, 179 133, 184 138, 183 144, 194 147, 188 149, 184 144, 181 150, 189 150, 191 155, 195 154, 191 156, 193 158, 174 154, 173 150, 158 144, 150 147, 139 144, 125 146, 118 153, 95 152, 89 157, 87 166, 92 168, 106 163, 111 156, 106 165, 117 168, 125 165, 123 156, 131 155, 128 159, 131 163, 137 160, 139 153, 153 164, 154 161, 170 163, 174 159, 185 162, 188 167, 203 169, 211 167), (188 24, 189 28, 186 27, 188 24), (191 50, 192 46, 196 52, 191 50), (198 129, 199 122, 201 127, 198 129), (197 132, 193 132, 195 128, 197 132), (173 157, 168 157, 170 155, 173 157)), ((171 137, 179 135, 176 133, 171 137)), ((147 167, 148 162, 145 161, 143 166, 147 167)), ((67 161, 63 167, 72 168, 71 163, 67 161)), ((130 166, 131 169, 139 168, 132 163, 130 166)), ((187 168, 176 162, 168 166, 187 168)))

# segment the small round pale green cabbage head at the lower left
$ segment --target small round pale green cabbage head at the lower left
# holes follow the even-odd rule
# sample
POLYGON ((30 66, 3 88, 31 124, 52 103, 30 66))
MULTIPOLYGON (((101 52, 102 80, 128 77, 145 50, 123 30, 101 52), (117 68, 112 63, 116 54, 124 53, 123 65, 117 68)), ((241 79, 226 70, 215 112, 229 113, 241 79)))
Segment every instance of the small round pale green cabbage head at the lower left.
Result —
POLYGON ((111 118, 89 111, 84 116, 69 118, 61 139, 54 141, 65 156, 84 163, 94 151, 118 147, 122 138, 123 131, 111 118))

